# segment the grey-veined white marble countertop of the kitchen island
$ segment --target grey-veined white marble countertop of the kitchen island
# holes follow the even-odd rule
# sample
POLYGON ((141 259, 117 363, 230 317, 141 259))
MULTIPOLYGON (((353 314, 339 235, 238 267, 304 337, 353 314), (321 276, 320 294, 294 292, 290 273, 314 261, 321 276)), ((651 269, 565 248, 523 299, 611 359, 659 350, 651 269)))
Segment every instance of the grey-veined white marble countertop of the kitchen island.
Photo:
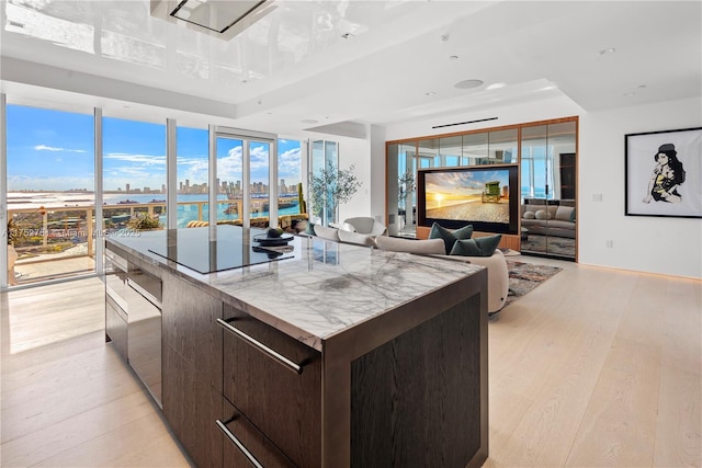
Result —
MULTIPOLYGON (((197 273, 150 251, 172 247, 173 242, 178 242, 179 249, 188 249, 186 243, 230 241, 233 236, 241 242, 241 229, 190 228, 185 240, 180 236, 183 230, 114 236, 107 238, 107 248, 120 247, 199 285, 317 350, 336 333, 483 270, 463 262, 299 236, 290 242, 294 248, 290 258, 210 274, 197 273), (173 241, 176 238, 180 239, 173 241)), ((256 232, 262 231, 251 231, 256 232)), ((242 250, 251 249, 244 243, 242 250)))

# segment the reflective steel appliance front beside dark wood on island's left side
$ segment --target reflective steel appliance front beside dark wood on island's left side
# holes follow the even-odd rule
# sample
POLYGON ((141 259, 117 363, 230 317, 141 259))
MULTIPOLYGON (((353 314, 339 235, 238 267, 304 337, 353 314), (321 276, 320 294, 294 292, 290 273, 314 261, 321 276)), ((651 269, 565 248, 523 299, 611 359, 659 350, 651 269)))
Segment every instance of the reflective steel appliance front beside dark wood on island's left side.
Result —
POLYGON ((161 404, 161 279, 129 265, 127 272, 128 361, 161 404))

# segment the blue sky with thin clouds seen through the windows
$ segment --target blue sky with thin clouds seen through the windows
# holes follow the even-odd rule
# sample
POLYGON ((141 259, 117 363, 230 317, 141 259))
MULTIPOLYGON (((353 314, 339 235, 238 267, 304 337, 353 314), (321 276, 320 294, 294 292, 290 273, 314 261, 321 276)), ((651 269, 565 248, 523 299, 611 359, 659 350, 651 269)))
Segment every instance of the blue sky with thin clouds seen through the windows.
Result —
MULTIPOLYGON (((88 114, 7 106, 8 190, 93 190, 93 118, 88 114)), ((207 182, 206 129, 178 127, 178 181, 207 182)), ((222 145, 225 146, 225 145, 222 145)), ((252 144, 251 181, 268 184, 267 147, 252 144)), ((279 140, 279 180, 301 179, 299 141, 279 140)), ((218 147, 218 176, 239 180, 241 145, 218 147), (236 178, 236 179, 234 179, 236 178)), ((166 183, 166 125, 103 118, 104 190, 166 183)))

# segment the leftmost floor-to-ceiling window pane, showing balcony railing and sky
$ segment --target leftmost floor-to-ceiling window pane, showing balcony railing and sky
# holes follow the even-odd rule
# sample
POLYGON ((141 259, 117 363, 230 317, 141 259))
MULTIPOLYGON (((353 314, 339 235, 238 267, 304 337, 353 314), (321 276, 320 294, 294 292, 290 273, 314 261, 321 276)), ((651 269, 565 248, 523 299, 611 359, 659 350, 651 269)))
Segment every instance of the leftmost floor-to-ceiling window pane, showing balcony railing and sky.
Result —
POLYGON ((84 111, 7 105, 3 185, 19 254, 10 285, 94 267, 93 115, 84 111))

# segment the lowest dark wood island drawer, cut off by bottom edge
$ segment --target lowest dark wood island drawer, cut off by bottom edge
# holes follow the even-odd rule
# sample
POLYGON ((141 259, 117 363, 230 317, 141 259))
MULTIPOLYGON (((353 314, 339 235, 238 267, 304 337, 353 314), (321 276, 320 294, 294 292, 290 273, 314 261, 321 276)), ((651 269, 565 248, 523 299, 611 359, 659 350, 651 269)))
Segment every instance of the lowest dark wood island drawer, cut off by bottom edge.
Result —
POLYGON ((224 467, 248 468, 256 467, 257 463, 265 468, 295 467, 291 459, 227 400, 223 401, 222 408, 225 419, 216 424, 225 435, 222 452, 224 467))

